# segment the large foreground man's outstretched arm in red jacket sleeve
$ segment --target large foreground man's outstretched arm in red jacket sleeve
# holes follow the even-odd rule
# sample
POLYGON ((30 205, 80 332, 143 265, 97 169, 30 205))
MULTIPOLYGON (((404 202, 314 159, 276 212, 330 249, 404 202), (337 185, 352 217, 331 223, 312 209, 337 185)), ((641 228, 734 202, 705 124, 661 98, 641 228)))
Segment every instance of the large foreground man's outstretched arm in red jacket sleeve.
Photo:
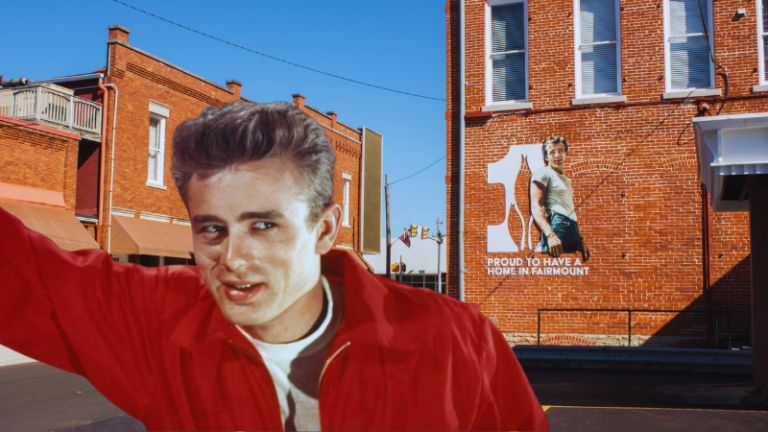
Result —
POLYGON ((66 252, 0 209, 0 344, 84 375, 140 417, 164 273, 66 252))

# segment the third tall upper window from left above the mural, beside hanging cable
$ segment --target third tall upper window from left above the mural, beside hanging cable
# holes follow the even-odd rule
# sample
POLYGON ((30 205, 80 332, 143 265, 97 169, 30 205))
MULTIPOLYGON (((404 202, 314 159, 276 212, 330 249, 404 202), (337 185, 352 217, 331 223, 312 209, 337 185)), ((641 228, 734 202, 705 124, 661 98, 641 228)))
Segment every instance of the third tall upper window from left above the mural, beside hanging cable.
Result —
POLYGON ((711 0, 664 0, 667 91, 714 88, 711 0))

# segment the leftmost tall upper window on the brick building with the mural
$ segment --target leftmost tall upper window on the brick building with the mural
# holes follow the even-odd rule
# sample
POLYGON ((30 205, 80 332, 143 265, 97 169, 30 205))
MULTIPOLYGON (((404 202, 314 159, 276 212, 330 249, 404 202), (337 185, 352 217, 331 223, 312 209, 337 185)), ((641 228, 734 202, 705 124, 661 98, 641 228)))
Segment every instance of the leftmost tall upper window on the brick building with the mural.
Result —
POLYGON ((487 104, 528 100, 528 20, 525 0, 486 3, 487 104))

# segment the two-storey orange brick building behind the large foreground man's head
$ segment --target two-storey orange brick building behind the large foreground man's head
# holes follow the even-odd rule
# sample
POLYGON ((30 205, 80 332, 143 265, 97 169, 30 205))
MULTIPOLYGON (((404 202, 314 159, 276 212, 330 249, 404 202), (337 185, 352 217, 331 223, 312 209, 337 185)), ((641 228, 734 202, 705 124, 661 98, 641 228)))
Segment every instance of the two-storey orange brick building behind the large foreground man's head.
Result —
MULTIPOLYGON (((76 161, 77 192, 71 189, 68 206, 81 221, 94 226, 101 248, 119 261, 147 266, 192 263, 188 214, 171 174, 173 132, 207 107, 250 100, 240 94, 239 81, 229 80, 222 86, 206 80, 131 45, 129 35, 130 30, 122 26, 109 27, 105 68, 32 82, 30 87, 38 93, 35 89, 55 89, 61 97, 99 109, 98 124, 88 131, 75 131, 80 134, 79 150, 75 144, 74 153, 68 155, 76 161)), ((366 136, 378 137, 368 158, 378 158, 380 167, 381 137, 345 125, 334 112, 306 105, 302 95, 294 95, 293 103, 323 126, 338 155, 334 200, 343 206, 345 220, 336 247, 347 249, 367 265, 362 258, 361 219, 368 215, 380 224, 380 206, 363 205, 364 145, 366 136)), ((66 110, 66 103, 59 109, 66 110)), ((34 120, 45 123, 39 117, 34 120)), ((64 117, 66 121, 51 126, 74 131, 67 121, 78 118, 77 113, 64 117)), ((378 186, 375 183, 375 176, 369 175, 367 188, 380 189, 381 179, 378 186)), ((373 235, 378 239, 379 232, 373 235)))

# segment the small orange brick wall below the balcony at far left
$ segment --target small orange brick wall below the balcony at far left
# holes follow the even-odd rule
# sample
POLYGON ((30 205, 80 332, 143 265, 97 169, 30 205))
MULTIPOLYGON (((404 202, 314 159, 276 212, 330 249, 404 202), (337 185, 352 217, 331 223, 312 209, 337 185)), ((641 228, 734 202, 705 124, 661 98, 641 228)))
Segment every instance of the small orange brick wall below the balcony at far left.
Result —
POLYGON ((62 192, 74 212, 79 141, 17 122, 0 119, 0 182, 62 192))

